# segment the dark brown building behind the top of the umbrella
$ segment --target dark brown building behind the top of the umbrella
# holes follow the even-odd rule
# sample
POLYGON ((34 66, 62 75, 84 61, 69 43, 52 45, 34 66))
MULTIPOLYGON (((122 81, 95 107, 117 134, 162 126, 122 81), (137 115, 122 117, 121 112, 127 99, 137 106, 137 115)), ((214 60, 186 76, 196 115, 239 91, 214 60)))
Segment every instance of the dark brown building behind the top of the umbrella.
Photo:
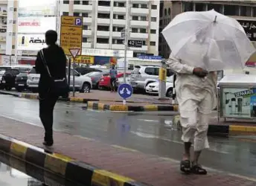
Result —
POLYGON ((226 16, 237 19, 244 29, 249 39, 255 45, 256 28, 247 29, 247 24, 256 25, 256 1, 161 1, 159 12, 159 55, 168 58, 170 48, 164 40, 161 31, 179 13, 187 11, 216 10, 226 16))

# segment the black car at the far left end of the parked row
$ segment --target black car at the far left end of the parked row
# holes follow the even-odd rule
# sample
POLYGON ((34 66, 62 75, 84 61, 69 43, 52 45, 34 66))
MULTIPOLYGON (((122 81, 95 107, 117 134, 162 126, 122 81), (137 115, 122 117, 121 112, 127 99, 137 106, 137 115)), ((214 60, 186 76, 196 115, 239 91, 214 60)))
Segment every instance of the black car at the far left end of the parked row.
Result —
POLYGON ((18 68, 8 68, 5 70, 1 78, 1 85, 4 86, 4 89, 10 91, 11 89, 13 89, 13 87, 15 87, 15 79, 18 74, 18 68))

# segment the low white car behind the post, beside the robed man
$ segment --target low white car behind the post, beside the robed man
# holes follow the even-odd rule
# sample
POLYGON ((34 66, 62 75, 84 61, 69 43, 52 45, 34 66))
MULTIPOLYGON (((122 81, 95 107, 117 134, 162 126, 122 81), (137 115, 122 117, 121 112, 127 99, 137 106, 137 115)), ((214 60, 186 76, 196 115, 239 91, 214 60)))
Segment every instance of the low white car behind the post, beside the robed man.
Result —
MULTIPOLYGON (((159 94, 159 82, 149 83, 145 90, 147 94, 159 94)), ((173 76, 167 78, 165 92, 166 97, 173 97, 173 76)))

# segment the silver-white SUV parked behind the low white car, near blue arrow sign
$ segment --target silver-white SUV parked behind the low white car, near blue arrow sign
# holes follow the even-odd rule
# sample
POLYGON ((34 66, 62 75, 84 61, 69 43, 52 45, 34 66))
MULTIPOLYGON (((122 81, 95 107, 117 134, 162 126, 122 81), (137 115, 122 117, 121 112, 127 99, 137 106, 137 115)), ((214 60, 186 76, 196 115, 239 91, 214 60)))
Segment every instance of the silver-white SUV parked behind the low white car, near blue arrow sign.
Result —
MULTIPOLYGON (((136 65, 131 74, 130 84, 134 90, 144 90, 149 83, 157 82, 159 79, 159 66, 136 65)), ((167 68, 167 77, 173 75, 167 68)))

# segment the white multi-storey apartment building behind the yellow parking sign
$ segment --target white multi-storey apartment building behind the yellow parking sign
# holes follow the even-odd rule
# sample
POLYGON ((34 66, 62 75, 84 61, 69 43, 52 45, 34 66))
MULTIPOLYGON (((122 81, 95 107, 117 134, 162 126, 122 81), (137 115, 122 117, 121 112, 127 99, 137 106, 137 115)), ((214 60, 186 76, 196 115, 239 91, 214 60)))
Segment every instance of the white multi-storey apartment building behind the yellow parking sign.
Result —
POLYGON ((121 31, 128 28, 129 39, 143 42, 142 48, 128 48, 129 57, 137 57, 159 54, 159 3, 159 0, 62 1, 60 11, 64 16, 83 16, 82 54, 124 54, 121 31))

